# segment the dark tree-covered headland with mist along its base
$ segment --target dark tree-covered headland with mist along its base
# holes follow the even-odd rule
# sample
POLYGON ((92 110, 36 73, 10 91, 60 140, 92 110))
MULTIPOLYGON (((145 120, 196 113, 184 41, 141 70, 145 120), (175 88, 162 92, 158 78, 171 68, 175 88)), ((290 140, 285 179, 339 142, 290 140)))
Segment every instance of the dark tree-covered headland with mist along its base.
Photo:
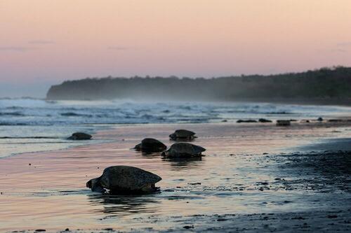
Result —
POLYGON ((53 85, 52 100, 267 101, 289 104, 351 103, 351 68, 218 78, 85 78, 53 85))

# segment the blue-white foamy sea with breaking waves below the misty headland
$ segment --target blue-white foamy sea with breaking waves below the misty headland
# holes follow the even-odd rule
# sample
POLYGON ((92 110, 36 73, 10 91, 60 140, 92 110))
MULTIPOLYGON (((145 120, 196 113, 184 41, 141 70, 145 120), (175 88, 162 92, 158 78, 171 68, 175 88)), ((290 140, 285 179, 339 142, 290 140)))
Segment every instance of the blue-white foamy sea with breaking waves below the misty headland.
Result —
POLYGON ((350 113, 350 107, 293 104, 0 99, 0 158, 83 145, 86 141, 66 139, 73 132, 92 134, 116 124, 236 122, 258 118, 315 120, 350 113))

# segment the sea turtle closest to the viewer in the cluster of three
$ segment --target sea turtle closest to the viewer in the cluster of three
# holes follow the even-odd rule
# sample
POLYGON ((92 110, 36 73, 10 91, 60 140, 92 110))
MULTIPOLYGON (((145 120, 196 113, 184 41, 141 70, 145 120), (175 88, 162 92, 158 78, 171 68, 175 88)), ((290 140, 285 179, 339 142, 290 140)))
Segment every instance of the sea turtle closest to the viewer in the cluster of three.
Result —
POLYGON ((174 143, 162 156, 169 158, 201 157, 206 149, 191 143, 174 143))

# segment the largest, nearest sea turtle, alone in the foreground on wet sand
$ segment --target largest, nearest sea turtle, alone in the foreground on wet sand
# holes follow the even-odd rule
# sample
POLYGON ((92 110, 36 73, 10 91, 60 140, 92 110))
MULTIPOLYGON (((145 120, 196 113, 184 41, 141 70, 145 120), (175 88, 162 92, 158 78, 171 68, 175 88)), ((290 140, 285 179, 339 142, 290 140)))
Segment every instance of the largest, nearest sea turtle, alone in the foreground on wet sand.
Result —
POLYGON ((111 194, 149 193, 159 190, 154 184, 161 179, 138 167, 113 166, 107 167, 100 177, 88 181, 86 187, 93 192, 103 193, 110 190, 111 194))

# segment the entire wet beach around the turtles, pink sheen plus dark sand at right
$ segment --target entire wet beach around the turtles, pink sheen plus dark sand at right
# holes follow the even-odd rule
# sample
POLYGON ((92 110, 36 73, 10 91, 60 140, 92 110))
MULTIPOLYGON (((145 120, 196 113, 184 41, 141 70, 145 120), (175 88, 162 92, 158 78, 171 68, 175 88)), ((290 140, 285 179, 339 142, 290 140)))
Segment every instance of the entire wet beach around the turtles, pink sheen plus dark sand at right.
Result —
POLYGON ((0 231, 296 232, 351 230, 351 122, 124 125, 92 144, 0 160, 0 231), (205 147, 201 160, 135 152, 186 128, 205 147), (336 151, 343 150, 343 151, 336 151), (313 151, 312 151, 313 150, 313 151), (85 187, 105 167, 158 174, 161 192, 98 195, 85 187))

